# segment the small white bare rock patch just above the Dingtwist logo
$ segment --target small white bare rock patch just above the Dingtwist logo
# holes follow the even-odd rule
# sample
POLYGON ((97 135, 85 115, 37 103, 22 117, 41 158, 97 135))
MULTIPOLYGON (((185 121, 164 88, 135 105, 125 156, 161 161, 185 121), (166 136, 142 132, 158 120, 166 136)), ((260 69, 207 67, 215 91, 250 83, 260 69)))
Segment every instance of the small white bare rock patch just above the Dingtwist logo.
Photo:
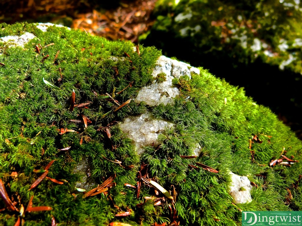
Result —
POLYGON ((246 176, 239 176, 230 172, 232 185, 230 186, 229 194, 233 197, 234 203, 251 202, 252 197, 250 191, 252 185, 246 176))

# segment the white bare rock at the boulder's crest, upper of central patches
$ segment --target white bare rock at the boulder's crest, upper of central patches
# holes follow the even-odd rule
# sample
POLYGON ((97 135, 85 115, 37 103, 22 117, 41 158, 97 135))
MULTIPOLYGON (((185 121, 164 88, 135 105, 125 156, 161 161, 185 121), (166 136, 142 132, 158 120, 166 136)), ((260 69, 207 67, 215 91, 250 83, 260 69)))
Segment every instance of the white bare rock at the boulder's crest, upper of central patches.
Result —
POLYGON ((200 74, 199 69, 196 67, 190 67, 189 64, 184 62, 160 56, 156 62, 156 67, 153 70, 152 76, 156 78, 159 73, 165 73, 166 80, 161 83, 155 82, 149 86, 143 87, 135 98, 135 102, 140 103, 144 101, 146 102, 146 105, 149 106, 156 106, 161 103, 164 105, 172 103, 172 98, 180 94, 179 89, 172 86, 172 80, 174 78, 179 79, 184 75, 191 78, 191 72, 200 74))

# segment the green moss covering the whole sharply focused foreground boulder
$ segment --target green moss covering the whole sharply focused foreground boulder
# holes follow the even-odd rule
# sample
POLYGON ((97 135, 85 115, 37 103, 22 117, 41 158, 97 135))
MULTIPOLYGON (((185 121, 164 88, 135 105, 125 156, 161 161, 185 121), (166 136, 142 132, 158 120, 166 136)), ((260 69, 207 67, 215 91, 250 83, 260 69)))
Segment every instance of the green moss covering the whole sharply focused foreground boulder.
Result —
MULTIPOLYGON (((46 32, 37 28, 37 24, 1 24, 0 28, 0 37, 21 36, 25 32, 36 36, 24 47, 10 47, 12 42, 0 42, 0 62, 4 64, 0 66, 0 177, 9 195, 18 200, 15 196, 18 193, 24 206, 34 195, 34 206, 53 208, 48 212, 26 213, 25 225, 50 225, 52 215, 62 225, 170 222, 168 201, 153 206, 153 200, 149 200, 137 206, 144 201, 143 197, 154 195, 153 189, 142 186, 137 199, 135 190, 124 186, 124 183, 137 183, 137 171, 143 162, 148 164, 149 178, 167 190, 173 190, 171 185, 174 185, 178 193, 176 220, 182 225, 238 224, 240 209, 302 209, 301 184, 296 182, 302 171, 300 163, 294 163, 290 168, 268 165, 281 153, 300 160, 301 142, 268 108, 246 97, 243 89, 230 86, 199 68, 200 74, 190 73, 191 79, 184 75, 172 80, 179 89, 179 95, 172 103, 148 106, 133 99, 142 87, 165 82, 153 79, 153 68, 161 55, 155 48, 140 46, 138 55, 133 52, 131 42, 109 42, 61 27, 49 26, 46 32), (51 43, 54 45, 47 46, 51 43), (40 49, 40 54, 36 52, 39 44, 47 46, 40 49), (45 58, 47 55, 49 57, 45 58), (47 86, 43 78, 59 90, 47 86), (91 102, 88 109, 69 111, 73 89, 76 104, 91 102), (114 111, 117 106, 106 93, 111 96, 115 93, 114 99, 120 104, 129 99, 132 101, 114 111), (154 118, 173 122, 175 127, 159 134, 159 147, 147 146, 139 156, 132 140, 114 121, 147 110, 154 118), (82 114, 92 121, 86 128, 70 121, 82 120, 82 114), (100 127, 109 127, 110 139, 100 127), (79 133, 59 135, 61 128, 79 133), (249 139, 255 135, 259 140, 253 140, 251 150, 249 139), (197 143, 201 147, 197 158, 180 157, 192 155, 197 143), (71 148, 58 150, 66 147, 71 148), (57 161, 48 176, 69 182, 57 185, 43 180, 28 191, 39 176, 33 169, 45 167, 52 159, 57 161), (85 199, 81 193, 76 199, 72 196, 80 178, 72 171, 83 159, 90 161, 90 177, 98 184, 114 173, 117 175, 116 186, 108 191, 112 201, 109 196, 102 195, 85 199), (114 163, 115 160, 122 162, 121 166, 114 163), (196 162, 219 173, 188 166, 196 162), (228 194, 230 171, 247 176, 258 185, 251 191, 252 202, 232 204, 233 198, 228 194), (14 176, 12 172, 18 175, 14 176), (127 208, 132 209, 130 216, 115 217, 118 211, 127 208)), ((2 201, 0 204, 4 206, 2 201)), ((0 224, 14 225, 17 215, 8 210, 0 212, 0 224)))

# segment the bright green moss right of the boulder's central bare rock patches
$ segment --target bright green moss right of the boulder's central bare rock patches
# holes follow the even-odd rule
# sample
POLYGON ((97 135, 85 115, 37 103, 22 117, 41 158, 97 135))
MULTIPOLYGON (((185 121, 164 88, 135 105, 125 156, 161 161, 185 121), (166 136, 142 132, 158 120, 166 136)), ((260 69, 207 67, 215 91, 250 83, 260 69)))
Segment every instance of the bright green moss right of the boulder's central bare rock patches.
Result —
POLYGON ((239 209, 301 210, 301 188, 293 188, 302 171, 301 165, 291 168, 268 165, 283 149, 287 156, 294 155, 301 161, 300 140, 268 108, 246 97, 243 89, 230 86, 200 69, 200 76, 193 73, 191 80, 182 77, 178 83, 173 81, 180 84, 182 90, 174 106, 153 108, 155 117, 171 120, 177 126, 160 135, 159 149, 147 147, 143 155, 143 161, 149 163, 150 177, 155 177, 164 187, 171 184, 176 187, 179 194, 175 207, 181 225, 238 224, 241 221, 239 209), (252 159, 249 139, 255 135, 262 143, 252 144, 255 151, 252 159), (202 146, 197 159, 179 157, 191 155, 196 143, 202 146), (195 162, 220 172, 189 169, 188 164, 195 162), (252 190, 252 202, 232 204, 227 192, 229 170, 247 175, 258 185, 252 190), (287 188, 296 195, 290 202, 287 188))

